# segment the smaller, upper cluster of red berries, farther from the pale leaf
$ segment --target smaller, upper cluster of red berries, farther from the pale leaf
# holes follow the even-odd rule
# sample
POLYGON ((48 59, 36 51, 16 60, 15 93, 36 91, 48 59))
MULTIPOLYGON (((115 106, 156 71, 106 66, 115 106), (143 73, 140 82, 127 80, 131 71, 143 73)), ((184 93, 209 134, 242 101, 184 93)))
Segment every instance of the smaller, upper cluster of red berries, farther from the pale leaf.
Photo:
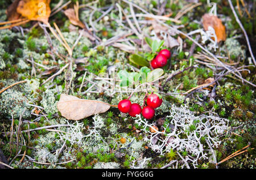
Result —
POLYGON ((166 66, 167 60, 171 57, 171 52, 168 49, 160 50, 159 54, 150 62, 152 68, 166 66))

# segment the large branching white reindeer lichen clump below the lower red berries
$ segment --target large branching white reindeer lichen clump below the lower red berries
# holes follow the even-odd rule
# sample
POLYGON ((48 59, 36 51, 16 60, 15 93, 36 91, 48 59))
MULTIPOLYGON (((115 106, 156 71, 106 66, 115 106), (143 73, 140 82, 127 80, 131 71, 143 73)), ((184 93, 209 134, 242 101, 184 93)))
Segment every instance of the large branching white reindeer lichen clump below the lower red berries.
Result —
POLYGON ((142 131, 149 134, 144 140, 148 142, 148 147, 153 151, 161 155, 170 152, 171 149, 180 152, 186 151, 191 156, 185 156, 186 162, 184 163, 192 162, 196 168, 197 160, 208 158, 209 153, 205 151, 201 141, 205 139, 211 147, 218 147, 220 145, 218 135, 228 130, 229 120, 218 117, 214 112, 195 116, 187 105, 180 107, 172 105, 170 113, 166 118, 167 123, 163 125, 163 131, 151 132, 150 128, 153 128, 154 124, 148 123, 140 115, 137 115, 135 123, 142 126, 142 131))

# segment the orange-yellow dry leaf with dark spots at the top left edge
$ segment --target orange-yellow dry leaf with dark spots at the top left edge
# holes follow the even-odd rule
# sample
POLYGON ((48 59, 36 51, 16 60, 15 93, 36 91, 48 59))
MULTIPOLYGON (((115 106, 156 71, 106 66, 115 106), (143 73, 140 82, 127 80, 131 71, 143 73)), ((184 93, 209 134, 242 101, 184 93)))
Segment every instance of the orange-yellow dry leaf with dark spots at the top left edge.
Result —
POLYGON ((51 0, 21 0, 18 3, 16 12, 29 20, 38 20, 45 24, 48 23, 51 9, 49 3, 51 0))

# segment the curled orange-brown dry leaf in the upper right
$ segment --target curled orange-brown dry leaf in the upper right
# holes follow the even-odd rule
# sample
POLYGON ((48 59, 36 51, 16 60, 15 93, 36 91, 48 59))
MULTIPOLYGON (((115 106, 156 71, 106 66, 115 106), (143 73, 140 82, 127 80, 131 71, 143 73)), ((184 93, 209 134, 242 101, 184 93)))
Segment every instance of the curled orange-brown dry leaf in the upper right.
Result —
MULTIPOLYGON (((222 24, 221 19, 215 15, 204 14, 203 15, 203 27, 205 31, 208 31, 208 27, 212 27, 217 36, 217 42, 226 40, 226 28, 222 24)), ((214 38, 213 38, 214 40, 214 38)))

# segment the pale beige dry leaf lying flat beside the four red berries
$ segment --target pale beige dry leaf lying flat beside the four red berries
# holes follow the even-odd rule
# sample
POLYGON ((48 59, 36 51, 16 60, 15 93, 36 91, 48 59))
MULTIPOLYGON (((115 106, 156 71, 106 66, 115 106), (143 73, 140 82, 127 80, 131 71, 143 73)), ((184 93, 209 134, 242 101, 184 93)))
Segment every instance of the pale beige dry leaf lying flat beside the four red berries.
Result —
POLYGON ((83 100, 76 96, 60 95, 57 102, 57 109, 61 115, 67 119, 80 120, 90 115, 105 113, 110 108, 110 104, 102 101, 83 100))

